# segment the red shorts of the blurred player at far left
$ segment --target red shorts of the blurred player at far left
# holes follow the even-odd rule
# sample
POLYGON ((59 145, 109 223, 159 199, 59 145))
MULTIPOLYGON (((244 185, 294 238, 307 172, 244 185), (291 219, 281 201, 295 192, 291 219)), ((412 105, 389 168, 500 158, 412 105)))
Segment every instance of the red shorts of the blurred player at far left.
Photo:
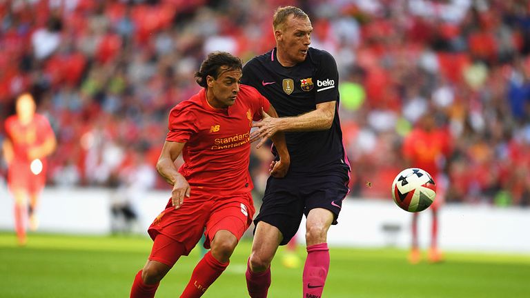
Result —
POLYGON ((46 183, 46 163, 43 161, 43 169, 39 175, 31 172, 29 162, 13 161, 8 169, 8 186, 11 190, 22 188, 35 194, 41 192, 46 183))

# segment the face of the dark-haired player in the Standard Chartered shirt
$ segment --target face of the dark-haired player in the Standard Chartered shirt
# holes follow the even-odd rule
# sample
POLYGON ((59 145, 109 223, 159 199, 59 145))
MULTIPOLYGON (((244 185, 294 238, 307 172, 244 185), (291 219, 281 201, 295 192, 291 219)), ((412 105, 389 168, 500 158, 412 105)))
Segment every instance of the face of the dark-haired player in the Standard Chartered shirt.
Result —
POLYGON ((237 93, 239 93, 239 80, 243 75, 242 70, 226 70, 221 68, 221 73, 217 79, 208 76, 208 102, 214 108, 228 108, 235 103, 237 93))

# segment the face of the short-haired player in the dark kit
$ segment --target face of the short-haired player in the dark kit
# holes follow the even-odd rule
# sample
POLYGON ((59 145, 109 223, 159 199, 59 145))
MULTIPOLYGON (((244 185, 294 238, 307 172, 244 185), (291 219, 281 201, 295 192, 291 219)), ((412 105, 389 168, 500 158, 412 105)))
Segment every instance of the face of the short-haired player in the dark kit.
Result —
POLYGON ((278 52, 282 54, 287 66, 293 66, 304 61, 311 44, 313 26, 309 19, 289 15, 282 30, 276 30, 278 52))

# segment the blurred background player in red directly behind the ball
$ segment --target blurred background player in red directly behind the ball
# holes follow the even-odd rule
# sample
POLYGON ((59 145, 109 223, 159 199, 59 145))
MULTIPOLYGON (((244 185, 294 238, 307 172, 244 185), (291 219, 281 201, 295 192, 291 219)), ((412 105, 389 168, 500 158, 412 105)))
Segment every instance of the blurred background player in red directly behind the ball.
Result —
MULTIPOLYGON (((435 118, 430 113, 423 115, 418 124, 404 139, 402 149, 408 165, 426 170, 436 183, 436 198, 430 208, 433 219, 429 248, 429 261, 436 263, 442 261, 442 253, 438 249, 438 210, 444 202, 447 188, 443 168, 451 153, 451 135, 446 129, 436 127, 435 118)), ((418 212, 413 213, 411 228, 412 246, 409 261, 417 264, 421 259, 418 245, 418 212)))

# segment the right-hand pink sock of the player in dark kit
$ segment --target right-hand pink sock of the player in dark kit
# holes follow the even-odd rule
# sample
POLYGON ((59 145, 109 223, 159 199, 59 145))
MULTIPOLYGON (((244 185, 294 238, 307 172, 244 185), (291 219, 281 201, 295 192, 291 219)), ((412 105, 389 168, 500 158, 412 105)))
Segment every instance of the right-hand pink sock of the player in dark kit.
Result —
POLYGON ((307 298, 320 298, 329 270, 328 244, 315 244, 307 247, 307 259, 304 266, 304 295, 307 298))

